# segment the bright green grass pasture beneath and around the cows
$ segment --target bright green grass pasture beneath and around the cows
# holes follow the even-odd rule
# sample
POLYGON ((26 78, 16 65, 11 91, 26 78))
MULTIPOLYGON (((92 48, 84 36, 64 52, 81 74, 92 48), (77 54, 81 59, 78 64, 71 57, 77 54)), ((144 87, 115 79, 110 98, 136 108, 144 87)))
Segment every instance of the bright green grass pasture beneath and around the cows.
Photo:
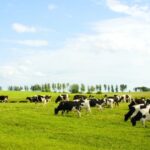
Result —
MULTIPOLYGON (((138 122, 132 127, 124 122, 126 103, 92 113, 82 110, 62 116, 54 115, 55 93, 4 92, 9 101, 25 100, 35 94, 52 95, 47 105, 34 103, 0 103, 1 150, 149 150, 150 123, 143 128, 138 122)), ((112 93, 111 93, 112 94, 112 93)), ((133 93, 135 97, 150 97, 150 93, 133 93)), ((73 95, 71 95, 72 97, 73 95)), ((96 95, 101 97, 102 95, 96 95)))

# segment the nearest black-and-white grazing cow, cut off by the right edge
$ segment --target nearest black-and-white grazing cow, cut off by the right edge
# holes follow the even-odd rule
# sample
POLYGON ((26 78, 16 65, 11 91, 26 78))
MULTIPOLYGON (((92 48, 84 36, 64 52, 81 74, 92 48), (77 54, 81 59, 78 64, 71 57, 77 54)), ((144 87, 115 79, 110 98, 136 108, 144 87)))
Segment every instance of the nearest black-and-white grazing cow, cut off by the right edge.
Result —
POLYGON ((145 127, 147 120, 150 121, 150 104, 142 106, 137 114, 131 118, 132 126, 135 126, 136 122, 140 120, 142 121, 143 127, 145 127))

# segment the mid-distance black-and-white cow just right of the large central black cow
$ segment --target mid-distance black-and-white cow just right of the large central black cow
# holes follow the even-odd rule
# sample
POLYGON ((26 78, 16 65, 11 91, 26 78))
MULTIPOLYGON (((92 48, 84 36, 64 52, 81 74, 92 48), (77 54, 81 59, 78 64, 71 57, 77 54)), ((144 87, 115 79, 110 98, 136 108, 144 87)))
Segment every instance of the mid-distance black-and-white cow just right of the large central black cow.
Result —
POLYGON ((102 110, 102 106, 105 105, 105 101, 103 99, 91 98, 89 99, 90 107, 98 107, 102 110))

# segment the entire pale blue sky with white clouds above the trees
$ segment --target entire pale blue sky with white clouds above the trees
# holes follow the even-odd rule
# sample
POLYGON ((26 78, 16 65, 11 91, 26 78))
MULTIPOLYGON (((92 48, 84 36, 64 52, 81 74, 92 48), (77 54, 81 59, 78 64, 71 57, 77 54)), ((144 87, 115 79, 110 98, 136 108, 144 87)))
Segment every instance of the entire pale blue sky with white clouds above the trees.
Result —
POLYGON ((149 0, 1 0, 0 86, 150 87, 149 0))

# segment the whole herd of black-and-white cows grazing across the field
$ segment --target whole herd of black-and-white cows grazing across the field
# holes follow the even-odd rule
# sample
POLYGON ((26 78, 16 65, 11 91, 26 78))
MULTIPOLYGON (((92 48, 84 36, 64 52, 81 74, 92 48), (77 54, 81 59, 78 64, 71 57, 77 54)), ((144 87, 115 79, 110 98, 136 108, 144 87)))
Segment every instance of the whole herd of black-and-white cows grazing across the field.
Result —
MULTIPOLYGON (((36 95, 27 97, 26 100, 29 102, 46 104, 51 100, 51 96, 36 95)), ((8 96, 1 95, 0 102, 8 102, 8 96)), ((104 95, 102 99, 97 99, 93 96, 75 95, 73 100, 69 100, 68 94, 62 94, 55 99, 55 103, 58 103, 58 106, 54 108, 54 113, 57 115, 59 112, 64 114, 65 112, 68 113, 69 111, 75 110, 78 116, 81 117, 82 109, 91 112, 91 107, 98 107, 102 110, 104 107, 113 108, 114 106, 119 106, 121 102, 129 103, 129 110, 124 115, 124 121, 130 119, 132 126, 135 126, 137 121, 141 121, 145 127, 145 122, 150 120, 150 99, 144 97, 134 99, 130 95, 114 95, 111 97, 104 95)))

